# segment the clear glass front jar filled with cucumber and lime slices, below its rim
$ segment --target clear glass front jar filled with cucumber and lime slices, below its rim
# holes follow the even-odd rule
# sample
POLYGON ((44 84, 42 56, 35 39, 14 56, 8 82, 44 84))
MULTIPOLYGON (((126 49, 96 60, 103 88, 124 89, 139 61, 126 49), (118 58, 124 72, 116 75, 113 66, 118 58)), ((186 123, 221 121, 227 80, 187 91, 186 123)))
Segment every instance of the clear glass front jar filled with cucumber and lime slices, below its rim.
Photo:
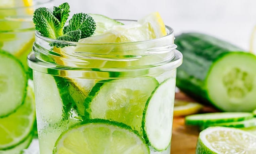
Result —
POLYGON ((128 43, 67 42, 36 32, 28 64, 40 154, 169 154, 182 55, 166 30, 162 38, 128 43))

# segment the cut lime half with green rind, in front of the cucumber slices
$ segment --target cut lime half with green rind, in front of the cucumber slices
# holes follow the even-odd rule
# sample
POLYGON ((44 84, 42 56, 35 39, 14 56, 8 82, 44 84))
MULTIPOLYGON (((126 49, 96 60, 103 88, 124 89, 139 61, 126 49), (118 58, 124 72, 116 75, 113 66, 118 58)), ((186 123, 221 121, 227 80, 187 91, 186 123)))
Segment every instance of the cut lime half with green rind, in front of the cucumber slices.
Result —
POLYGON ((209 127, 199 134, 196 154, 254 154, 256 136, 240 129, 209 127))

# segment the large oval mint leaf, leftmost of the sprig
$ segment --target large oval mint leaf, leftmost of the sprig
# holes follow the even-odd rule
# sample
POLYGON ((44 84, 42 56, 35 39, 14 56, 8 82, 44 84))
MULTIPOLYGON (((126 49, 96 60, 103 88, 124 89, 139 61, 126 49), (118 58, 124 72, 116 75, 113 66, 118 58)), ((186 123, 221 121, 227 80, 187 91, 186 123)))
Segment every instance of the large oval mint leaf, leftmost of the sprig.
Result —
POLYGON ((45 7, 35 10, 33 21, 36 30, 44 37, 56 39, 62 35, 62 28, 59 20, 45 7))

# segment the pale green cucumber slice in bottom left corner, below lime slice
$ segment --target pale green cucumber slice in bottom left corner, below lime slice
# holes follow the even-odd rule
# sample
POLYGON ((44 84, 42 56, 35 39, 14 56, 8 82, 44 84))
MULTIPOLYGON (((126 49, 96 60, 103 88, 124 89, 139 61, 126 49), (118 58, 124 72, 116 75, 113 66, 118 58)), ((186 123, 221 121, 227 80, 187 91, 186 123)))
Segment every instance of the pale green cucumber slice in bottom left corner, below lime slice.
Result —
POLYGON ((16 145, 13 148, 6 149, 6 150, 0 150, 0 154, 22 154, 24 149, 27 149, 32 142, 33 134, 29 135, 25 141, 22 143, 16 145))

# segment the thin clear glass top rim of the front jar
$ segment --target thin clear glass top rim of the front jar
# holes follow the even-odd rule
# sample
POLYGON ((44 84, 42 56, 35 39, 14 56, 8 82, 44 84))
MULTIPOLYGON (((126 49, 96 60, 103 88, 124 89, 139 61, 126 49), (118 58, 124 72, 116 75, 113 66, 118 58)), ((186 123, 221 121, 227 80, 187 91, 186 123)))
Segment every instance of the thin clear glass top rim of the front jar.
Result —
MULTIPOLYGON (((129 20, 129 19, 116 19, 119 21, 137 21, 137 20, 129 20)), ((81 43, 81 42, 71 42, 71 41, 62 41, 62 40, 56 40, 56 39, 52 39, 52 38, 47 38, 44 37, 42 35, 40 35, 40 33, 38 31, 35 32, 35 37, 42 39, 44 41, 47 42, 52 42, 52 43, 60 43, 60 44, 68 44, 68 45, 130 45, 130 44, 142 44, 142 43, 153 43, 155 41, 161 41, 163 39, 167 39, 169 37, 173 37, 174 35, 174 31, 171 27, 169 27, 168 25, 165 25, 165 28, 167 29, 168 33, 160 38, 156 38, 156 39, 150 39, 150 40, 143 40, 143 41, 134 41, 134 42, 112 42, 112 43, 95 43, 95 42, 87 42, 87 43, 81 43)))

